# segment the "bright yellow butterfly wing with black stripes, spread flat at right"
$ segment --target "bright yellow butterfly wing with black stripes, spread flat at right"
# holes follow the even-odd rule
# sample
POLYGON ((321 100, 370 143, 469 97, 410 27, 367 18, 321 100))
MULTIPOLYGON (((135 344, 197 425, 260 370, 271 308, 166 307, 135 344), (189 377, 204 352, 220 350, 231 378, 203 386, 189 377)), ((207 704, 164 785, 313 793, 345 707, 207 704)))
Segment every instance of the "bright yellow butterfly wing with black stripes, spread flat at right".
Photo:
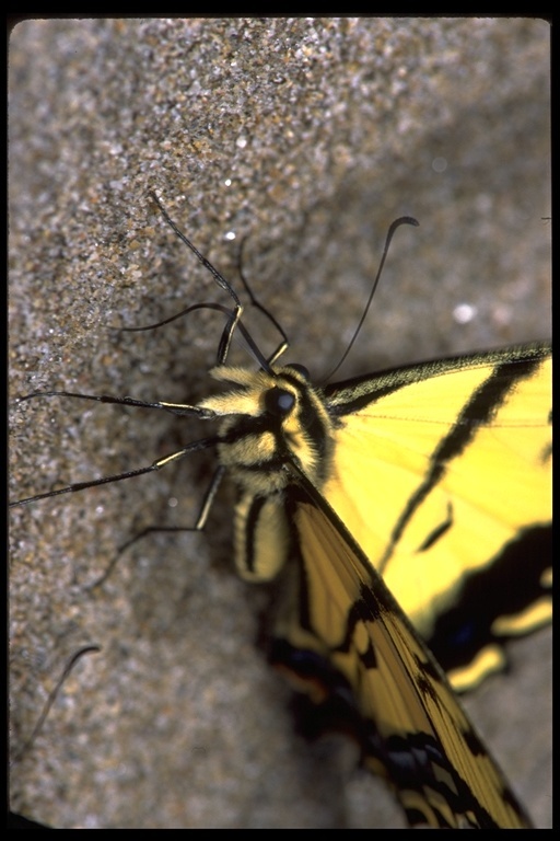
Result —
POLYGON ((431 647, 462 638, 462 654, 447 663, 440 644, 438 657, 447 669, 462 656, 452 681, 475 684, 503 666, 493 637, 551 615, 550 348, 362 378, 326 403, 323 495, 431 647))

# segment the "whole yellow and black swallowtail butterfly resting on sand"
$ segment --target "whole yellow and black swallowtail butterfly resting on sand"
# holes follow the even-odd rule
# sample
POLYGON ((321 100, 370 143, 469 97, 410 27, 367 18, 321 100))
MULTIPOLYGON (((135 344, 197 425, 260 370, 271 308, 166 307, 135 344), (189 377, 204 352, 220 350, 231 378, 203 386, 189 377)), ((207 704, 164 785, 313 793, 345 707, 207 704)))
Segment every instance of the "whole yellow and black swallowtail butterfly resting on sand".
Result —
POLYGON ((232 286, 153 198, 233 301, 179 313, 225 315, 210 372, 225 390, 192 405, 42 394, 149 406, 215 422, 218 431, 148 468, 15 504, 215 448, 219 468, 196 528, 229 473, 240 488, 237 572, 279 579, 272 661, 317 708, 337 702, 364 765, 387 780, 411 826, 528 826, 454 687, 503 667, 501 641, 550 619, 549 345, 313 384, 303 366, 279 364, 287 342, 268 358, 260 353, 232 286), (258 370, 226 364, 234 334, 258 370))

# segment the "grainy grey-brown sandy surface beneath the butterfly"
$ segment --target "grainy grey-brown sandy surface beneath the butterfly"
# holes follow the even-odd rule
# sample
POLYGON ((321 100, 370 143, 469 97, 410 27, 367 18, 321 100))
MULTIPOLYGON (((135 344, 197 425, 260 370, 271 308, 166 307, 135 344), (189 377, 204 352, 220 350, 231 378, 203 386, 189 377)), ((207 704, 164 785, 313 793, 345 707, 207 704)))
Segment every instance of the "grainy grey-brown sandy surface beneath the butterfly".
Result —
MULTIPOLYGON (((421 227, 398 231, 340 377, 550 334, 544 21, 27 21, 11 35, 9 110, 12 398, 207 392, 215 313, 112 330, 229 304, 150 188, 234 281, 225 234, 247 237, 245 274, 292 337, 289 357, 318 377, 352 335, 401 214, 421 227), (467 323, 462 303, 476 308, 467 323)), ((92 403, 13 407, 13 498, 208 434, 92 403)), ((207 535, 147 538, 88 589, 135 531, 192 521, 211 464, 13 511, 15 750, 68 657, 102 647, 12 765, 13 808, 55 827, 400 825, 338 740, 294 734, 290 692, 255 645, 268 594, 231 572, 230 491, 207 535)), ((546 634, 513 653, 518 668, 478 693, 472 716, 549 826, 546 634)))

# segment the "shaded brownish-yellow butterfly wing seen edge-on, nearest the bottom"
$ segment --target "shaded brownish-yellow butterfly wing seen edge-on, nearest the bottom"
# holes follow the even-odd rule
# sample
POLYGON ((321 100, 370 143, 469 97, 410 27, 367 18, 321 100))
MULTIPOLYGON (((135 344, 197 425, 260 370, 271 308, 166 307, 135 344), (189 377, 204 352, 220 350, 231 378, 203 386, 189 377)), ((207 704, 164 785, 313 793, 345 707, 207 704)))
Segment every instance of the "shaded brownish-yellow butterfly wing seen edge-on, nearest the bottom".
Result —
POLYGON ((273 659, 308 680, 317 655, 343 676, 363 721, 364 762, 387 777, 410 825, 529 826, 381 577, 328 504, 300 482, 289 506, 300 576, 278 621, 273 659))

